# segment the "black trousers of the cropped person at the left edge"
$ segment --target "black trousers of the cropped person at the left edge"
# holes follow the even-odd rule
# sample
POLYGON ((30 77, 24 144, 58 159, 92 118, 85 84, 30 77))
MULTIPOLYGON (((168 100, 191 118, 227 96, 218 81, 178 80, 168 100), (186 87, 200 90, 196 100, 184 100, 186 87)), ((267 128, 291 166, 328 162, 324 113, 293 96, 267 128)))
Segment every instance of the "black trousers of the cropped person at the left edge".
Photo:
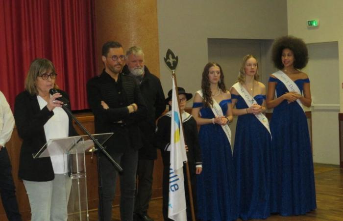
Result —
POLYGON ((22 221, 12 177, 12 166, 5 147, 0 150, 0 195, 7 219, 9 221, 22 221))

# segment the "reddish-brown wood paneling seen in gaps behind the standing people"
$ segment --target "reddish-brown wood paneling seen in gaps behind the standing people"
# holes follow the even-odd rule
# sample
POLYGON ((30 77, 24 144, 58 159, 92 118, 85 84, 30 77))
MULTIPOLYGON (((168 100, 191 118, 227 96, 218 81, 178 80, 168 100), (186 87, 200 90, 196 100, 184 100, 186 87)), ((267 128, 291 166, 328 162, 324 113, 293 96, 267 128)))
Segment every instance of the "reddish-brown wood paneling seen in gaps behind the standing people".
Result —
MULTIPOLYGON (((94 115, 92 113, 76 114, 77 119, 85 126, 85 128, 94 134, 94 115)), ((76 131, 81 135, 80 128, 74 124, 76 131)), ((18 178, 19 168, 19 154, 22 145, 22 140, 18 136, 17 129, 14 128, 12 138, 6 144, 8 154, 12 162, 13 179, 16 186, 16 194, 19 204, 19 210, 22 214, 23 220, 28 221, 31 219, 30 205, 25 192, 23 181, 18 178)), ((89 209, 98 208, 98 171, 97 171, 97 157, 92 154, 86 155, 86 170, 87 170, 87 191, 88 191, 88 207, 89 209)), ((163 163, 158 151, 158 159, 155 161, 154 173, 153 173, 153 186, 152 197, 162 196, 162 172, 163 163)), ((113 205, 119 204, 120 190, 117 185, 116 196, 113 205)), ((3 210, 2 203, 0 202, 0 221, 7 221, 5 211, 3 210)))

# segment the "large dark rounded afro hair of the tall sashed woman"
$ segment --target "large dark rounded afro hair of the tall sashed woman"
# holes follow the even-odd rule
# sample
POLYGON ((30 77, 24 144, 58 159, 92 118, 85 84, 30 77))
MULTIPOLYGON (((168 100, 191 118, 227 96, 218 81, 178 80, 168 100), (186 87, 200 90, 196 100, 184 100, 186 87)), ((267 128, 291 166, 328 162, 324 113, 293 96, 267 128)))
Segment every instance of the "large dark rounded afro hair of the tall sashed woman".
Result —
POLYGON ((294 36, 283 36, 274 41, 271 52, 271 60, 274 62, 274 66, 278 69, 283 68, 281 55, 286 48, 294 54, 294 68, 304 68, 309 60, 307 47, 302 39, 294 36))

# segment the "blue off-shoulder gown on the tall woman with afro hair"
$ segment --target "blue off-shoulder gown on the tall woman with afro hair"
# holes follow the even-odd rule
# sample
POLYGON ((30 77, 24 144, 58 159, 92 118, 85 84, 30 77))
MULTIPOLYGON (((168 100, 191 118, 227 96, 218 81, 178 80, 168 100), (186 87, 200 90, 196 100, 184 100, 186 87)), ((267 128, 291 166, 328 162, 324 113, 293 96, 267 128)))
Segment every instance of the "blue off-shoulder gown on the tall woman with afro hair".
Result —
MULTIPOLYGON (((288 92, 278 79, 277 96, 288 92)), ((303 90, 309 79, 294 81, 303 90)), ((303 215, 317 208, 315 178, 306 115, 299 104, 284 100, 274 108, 270 130, 272 135, 271 212, 282 216, 303 215)))

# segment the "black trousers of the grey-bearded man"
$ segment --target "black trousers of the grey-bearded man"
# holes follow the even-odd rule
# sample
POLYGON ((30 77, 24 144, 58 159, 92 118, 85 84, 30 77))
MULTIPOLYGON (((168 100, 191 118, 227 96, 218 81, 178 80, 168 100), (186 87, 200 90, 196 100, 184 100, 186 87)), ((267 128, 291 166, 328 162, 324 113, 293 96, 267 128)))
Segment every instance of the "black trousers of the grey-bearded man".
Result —
POLYGON ((138 160, 135 213, 147 214, 152 195, 152 173, 154 160, 138 160))

